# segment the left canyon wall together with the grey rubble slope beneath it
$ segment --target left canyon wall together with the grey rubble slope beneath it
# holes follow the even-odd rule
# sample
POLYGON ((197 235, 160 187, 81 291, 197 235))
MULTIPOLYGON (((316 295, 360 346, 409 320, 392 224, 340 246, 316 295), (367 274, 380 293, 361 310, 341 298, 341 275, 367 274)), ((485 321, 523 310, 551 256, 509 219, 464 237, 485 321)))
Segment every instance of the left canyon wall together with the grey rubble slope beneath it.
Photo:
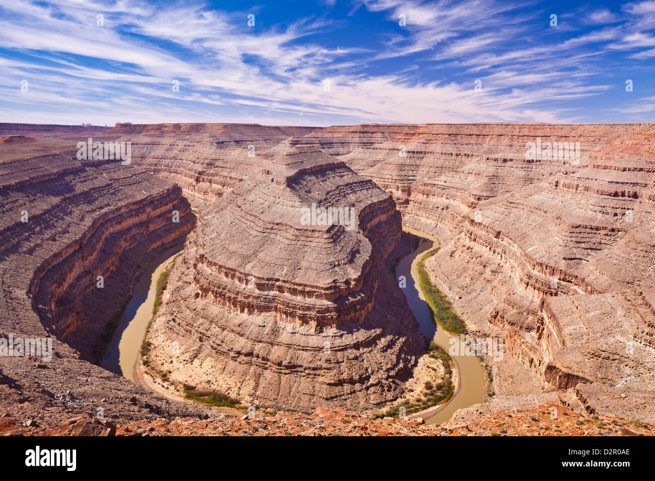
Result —
POLYGON ((142 169, 76 152, 75 142, 56 140, 0 148, 0 336, 52 346, 32 357, 5 349, 1 405, 47 424, 98 409, 115 420, 202 416, 88 362, 136 274, 193 228, 189 203, 142 169))

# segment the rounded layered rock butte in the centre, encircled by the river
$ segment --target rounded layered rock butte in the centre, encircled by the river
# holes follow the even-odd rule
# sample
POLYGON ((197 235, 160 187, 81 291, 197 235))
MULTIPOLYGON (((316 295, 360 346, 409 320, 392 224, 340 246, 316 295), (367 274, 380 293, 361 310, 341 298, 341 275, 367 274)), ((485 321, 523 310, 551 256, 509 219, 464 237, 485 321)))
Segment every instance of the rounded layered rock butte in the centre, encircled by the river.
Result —
POLYGON ((397 399, 424 347, 390 269, 391 196, 318 149, 251 162, 200 211, 148 334, 149 369, 275 408, 397 399), (303 220, 312 205, 345 220, 303 220))

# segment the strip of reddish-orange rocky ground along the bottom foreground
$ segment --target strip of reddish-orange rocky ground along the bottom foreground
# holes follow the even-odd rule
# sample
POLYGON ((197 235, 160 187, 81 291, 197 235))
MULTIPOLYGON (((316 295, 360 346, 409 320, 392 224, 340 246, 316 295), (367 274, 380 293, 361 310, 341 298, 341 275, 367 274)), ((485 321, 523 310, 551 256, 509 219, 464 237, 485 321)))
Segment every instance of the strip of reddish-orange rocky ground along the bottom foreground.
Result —
POLYGON ((655 426, 616 418, 581 416, 557 404, 533 410, 499 411, 466 422, 426 425, 423 419, 371 419, 343 409, 320 408, 313 414, 221 415, 134 421, 114 425, 86 415, 68 419, 60 429, 34 421, 18 424, 0 418, 1 436, 655 436, 655 426), (555 411, 553 411, 555 410, 555 411))

